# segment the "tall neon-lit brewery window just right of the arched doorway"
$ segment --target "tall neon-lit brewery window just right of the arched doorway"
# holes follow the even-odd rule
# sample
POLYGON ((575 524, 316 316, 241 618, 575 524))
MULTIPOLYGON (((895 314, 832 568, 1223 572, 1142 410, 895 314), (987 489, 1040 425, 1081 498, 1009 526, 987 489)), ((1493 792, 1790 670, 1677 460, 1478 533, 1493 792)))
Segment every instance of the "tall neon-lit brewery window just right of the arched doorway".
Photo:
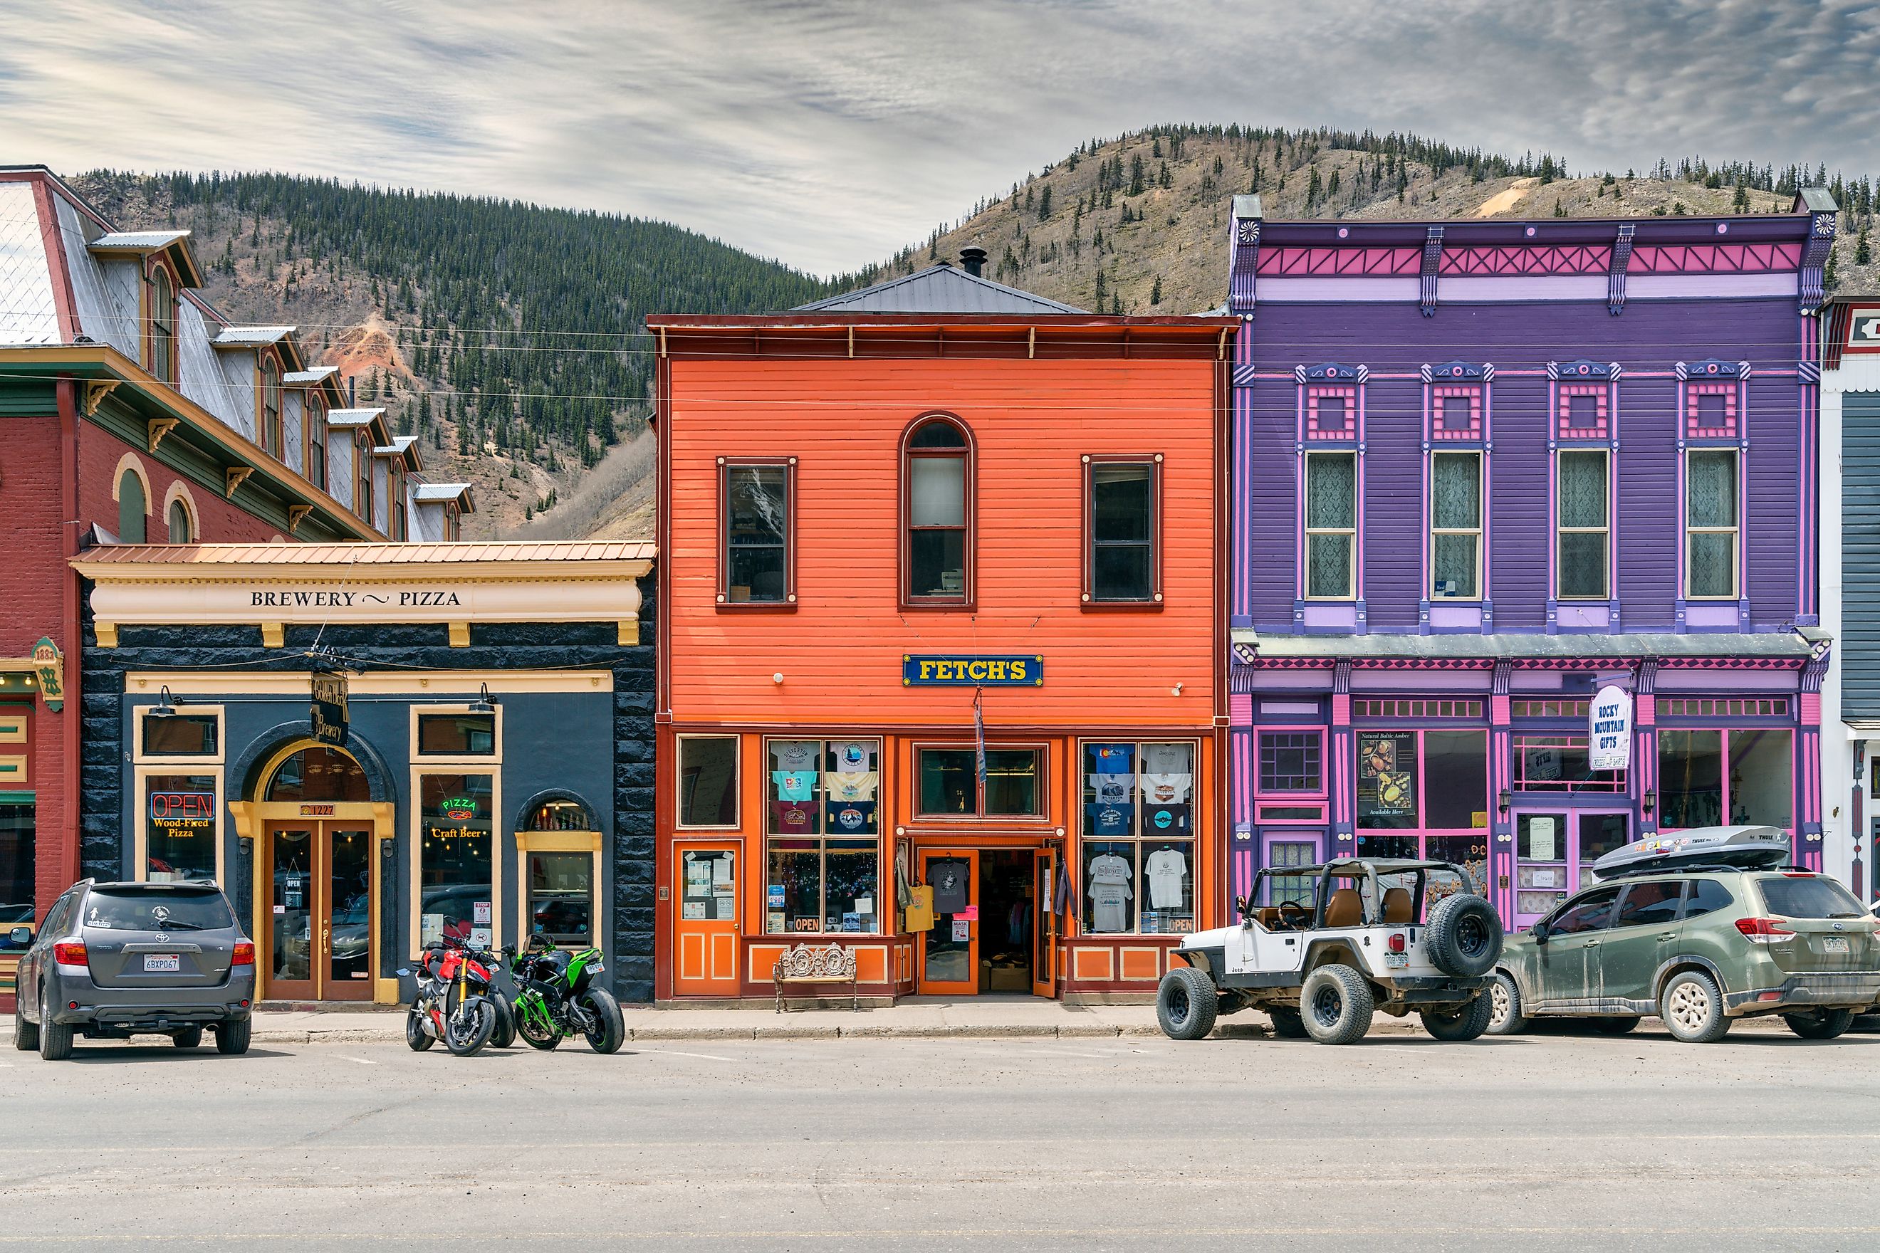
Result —
POLYGON ((491 875, 491 774, 421 774, 419 943, 453 937, 489 947, 494 928, 491 875))

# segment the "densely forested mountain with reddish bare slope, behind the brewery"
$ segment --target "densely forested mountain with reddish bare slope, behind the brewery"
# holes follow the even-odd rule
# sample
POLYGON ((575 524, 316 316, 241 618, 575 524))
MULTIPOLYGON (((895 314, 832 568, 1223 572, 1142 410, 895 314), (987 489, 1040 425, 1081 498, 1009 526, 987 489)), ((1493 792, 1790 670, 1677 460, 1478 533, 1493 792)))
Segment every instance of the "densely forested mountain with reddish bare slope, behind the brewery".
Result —
MULTIPOLYGON (((71 184, 126 229, 194 231, 203 295, 235 321, 291 323, 423 440, 427 473, 476 485, 464 537, 536 530, 588 472, 622 496, 650 468, 656 310, 790 308, 835 287, 664 222, 290 175, 130 175, 71 184)), ((650 511, 587 528, 650 535, 650 511)), ((566 530, 555 526, 551 530, 566 530)), ((635 535, 639 537, 639 535, 635 535)))

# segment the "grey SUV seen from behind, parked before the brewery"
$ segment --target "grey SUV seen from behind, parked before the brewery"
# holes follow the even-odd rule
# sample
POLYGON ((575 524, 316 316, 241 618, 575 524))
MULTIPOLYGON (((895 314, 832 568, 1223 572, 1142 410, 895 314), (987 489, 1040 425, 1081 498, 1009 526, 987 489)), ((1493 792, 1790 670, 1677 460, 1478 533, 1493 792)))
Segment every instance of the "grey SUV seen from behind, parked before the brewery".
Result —
POLYGON ((216 1033, 216 1050, 248 1052, 254 941, 214 883, 71 885, 38 937, 11 930, 19 960, 13 1046, 47 1061, 71 1041, 167 1035, 177 1048, 216 1033))

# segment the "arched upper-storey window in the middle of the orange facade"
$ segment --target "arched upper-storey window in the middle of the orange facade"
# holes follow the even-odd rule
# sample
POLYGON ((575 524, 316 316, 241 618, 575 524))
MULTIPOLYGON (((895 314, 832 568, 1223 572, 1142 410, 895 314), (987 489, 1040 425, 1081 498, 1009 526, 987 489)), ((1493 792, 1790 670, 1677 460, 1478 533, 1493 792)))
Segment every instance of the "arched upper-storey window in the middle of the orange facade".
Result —
POLYGON ((927 417, 901 449, 901 599, 972 603, 972 438, 951 417, 927 417))

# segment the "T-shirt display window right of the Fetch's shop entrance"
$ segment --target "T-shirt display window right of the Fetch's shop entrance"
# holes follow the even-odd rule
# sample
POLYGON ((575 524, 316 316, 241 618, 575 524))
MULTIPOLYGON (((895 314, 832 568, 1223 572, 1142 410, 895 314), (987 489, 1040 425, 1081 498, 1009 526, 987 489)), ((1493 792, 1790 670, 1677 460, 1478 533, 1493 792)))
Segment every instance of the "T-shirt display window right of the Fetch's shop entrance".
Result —
POLYGON ((1196 744, 1083 744, 1083 930, 1194 930, 1196 744))

